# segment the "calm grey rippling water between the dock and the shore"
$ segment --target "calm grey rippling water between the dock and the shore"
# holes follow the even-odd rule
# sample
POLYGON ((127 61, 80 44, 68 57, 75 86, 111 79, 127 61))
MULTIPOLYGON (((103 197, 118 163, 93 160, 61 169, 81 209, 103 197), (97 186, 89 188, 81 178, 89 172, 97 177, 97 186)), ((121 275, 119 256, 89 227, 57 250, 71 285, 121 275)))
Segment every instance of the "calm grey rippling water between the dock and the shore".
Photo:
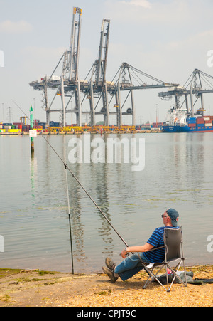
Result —
MULTIPOLYGON (((132 164, 123 162, 68 165, 124 240, 129 246, 146 243, 162 226, 160 215, 173 207, 180 213, 187 265, 213 263, 207 251, 213 235, 213 133, 102 136, 109 137, 145 138, 145 169, 132 172, 132 164)), ((71 138, 47 140, 68 159, 71 138)), ((0 136, 0 153, 0 267, 71 272, 62 162, 40 136, 33 158, 25 136, 0 136)), ((75 273, 101 271, 106 256, 119 263, 124 244, 70 174, 68 184, 75 273)))

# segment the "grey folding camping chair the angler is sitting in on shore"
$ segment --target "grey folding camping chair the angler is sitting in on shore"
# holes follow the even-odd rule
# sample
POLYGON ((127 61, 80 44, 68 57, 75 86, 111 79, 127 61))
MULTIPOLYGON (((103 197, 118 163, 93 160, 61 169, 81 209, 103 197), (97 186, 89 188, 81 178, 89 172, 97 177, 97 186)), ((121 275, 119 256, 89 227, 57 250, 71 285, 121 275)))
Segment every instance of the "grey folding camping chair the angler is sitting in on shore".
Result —
MULTIPOLYGON (((180 283, 187 286, 187 277, 186 277, 186 270, 185 270, 185 258, 183 256, 183 249, 182 249, 182 227, 180 228, 165 228, 164 231, 164 246, 165 249, 165 261, 162 263, 149 263, 145 265, 142 261, 143 268, 148 273, 148 279, 146 280, 145 285, 143 285, 143 289, 147 288, 148 285, 153 281, 156 280, 163 288, 169 292, 172 288, 172 285, 175 281, 175 278, 178 278, 180 283), (171 264, 175 261, 178 261, 178 264, 175 268, 171 267, 171 264), (185 273, 185 280, 182 280, 178 275, 179 268, 183 263, 184 273, 185 273), (159 268, 157 273, 153 273, 154 268, 159 268), (160 282, 158 279, 158 274, 160 271, 165 267, 165 274, 166 274, 166 281, 167 281, 167 288, 160 282), (169 278, 168 278, 168 269, 173 273, 173 280, 169 285, 169 278)), ((151 251, 155 251, 158 248, 154 248, 151 251)))

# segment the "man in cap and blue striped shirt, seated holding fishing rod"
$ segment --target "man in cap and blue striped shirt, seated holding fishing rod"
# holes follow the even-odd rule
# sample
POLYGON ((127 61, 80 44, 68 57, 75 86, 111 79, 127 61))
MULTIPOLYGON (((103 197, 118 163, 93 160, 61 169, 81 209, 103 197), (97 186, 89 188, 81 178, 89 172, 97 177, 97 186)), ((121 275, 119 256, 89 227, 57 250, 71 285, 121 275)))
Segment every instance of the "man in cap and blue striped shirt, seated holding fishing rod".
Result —
POLYGON ((143 261, 144 265, 147 265, 148 263, 161 263, 165 260, 165 250, 163 248, 164 228, 179 228, 179 214, 175 209, 167 209, 162 215, 162 218, 164 226, 156 228, 145 245, 130 246, 121 251, 121 256, 124 258, 124 261, 119 265, 116 265, 110 258, 106 258, 105 263, 107 268, 103 266, 102 270, 109 276, 111 282, 116 282, 119 277, 123 281, 131 278, 143 269, 143 265, 138 265, 141 261, 143 261), (151 251, 154 248, 158 249, 151 251), (128 255, 127 253, 137 254, 126 256, 128 255))

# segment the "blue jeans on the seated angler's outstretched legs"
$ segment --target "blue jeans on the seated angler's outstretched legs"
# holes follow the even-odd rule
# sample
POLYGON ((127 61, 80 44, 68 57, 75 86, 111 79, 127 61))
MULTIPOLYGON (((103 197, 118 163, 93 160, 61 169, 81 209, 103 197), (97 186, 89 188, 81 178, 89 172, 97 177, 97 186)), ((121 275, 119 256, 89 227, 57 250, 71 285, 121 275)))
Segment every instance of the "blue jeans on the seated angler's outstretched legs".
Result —
MULTIPOLYGON (((143 256, 143 253, 140 253, 141 260, 145 265, 149 262, 143 256)), ((141 263, 141 260, 138 254, 133 254, 132 256, 127 256, 119 265, 116 266, 114 269, 114 273, 118 274, 121 280, 126 281, 127 279, 131 278, 133 275, 138 273, 140 270, 143 269, 143 265, 138 264, 141 263), (138 266, 137 266, 138 265, 138 266)))

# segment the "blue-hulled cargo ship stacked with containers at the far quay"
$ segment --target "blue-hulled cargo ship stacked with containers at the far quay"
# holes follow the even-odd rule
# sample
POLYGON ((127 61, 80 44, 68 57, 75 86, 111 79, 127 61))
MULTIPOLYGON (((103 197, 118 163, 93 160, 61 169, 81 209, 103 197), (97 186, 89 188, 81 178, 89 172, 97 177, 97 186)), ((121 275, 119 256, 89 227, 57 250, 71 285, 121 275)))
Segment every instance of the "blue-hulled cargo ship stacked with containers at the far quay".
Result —
POLYGON ((213 116, 189 117, 186 109, 168 110, 163 132, 213 132, 213 116))

